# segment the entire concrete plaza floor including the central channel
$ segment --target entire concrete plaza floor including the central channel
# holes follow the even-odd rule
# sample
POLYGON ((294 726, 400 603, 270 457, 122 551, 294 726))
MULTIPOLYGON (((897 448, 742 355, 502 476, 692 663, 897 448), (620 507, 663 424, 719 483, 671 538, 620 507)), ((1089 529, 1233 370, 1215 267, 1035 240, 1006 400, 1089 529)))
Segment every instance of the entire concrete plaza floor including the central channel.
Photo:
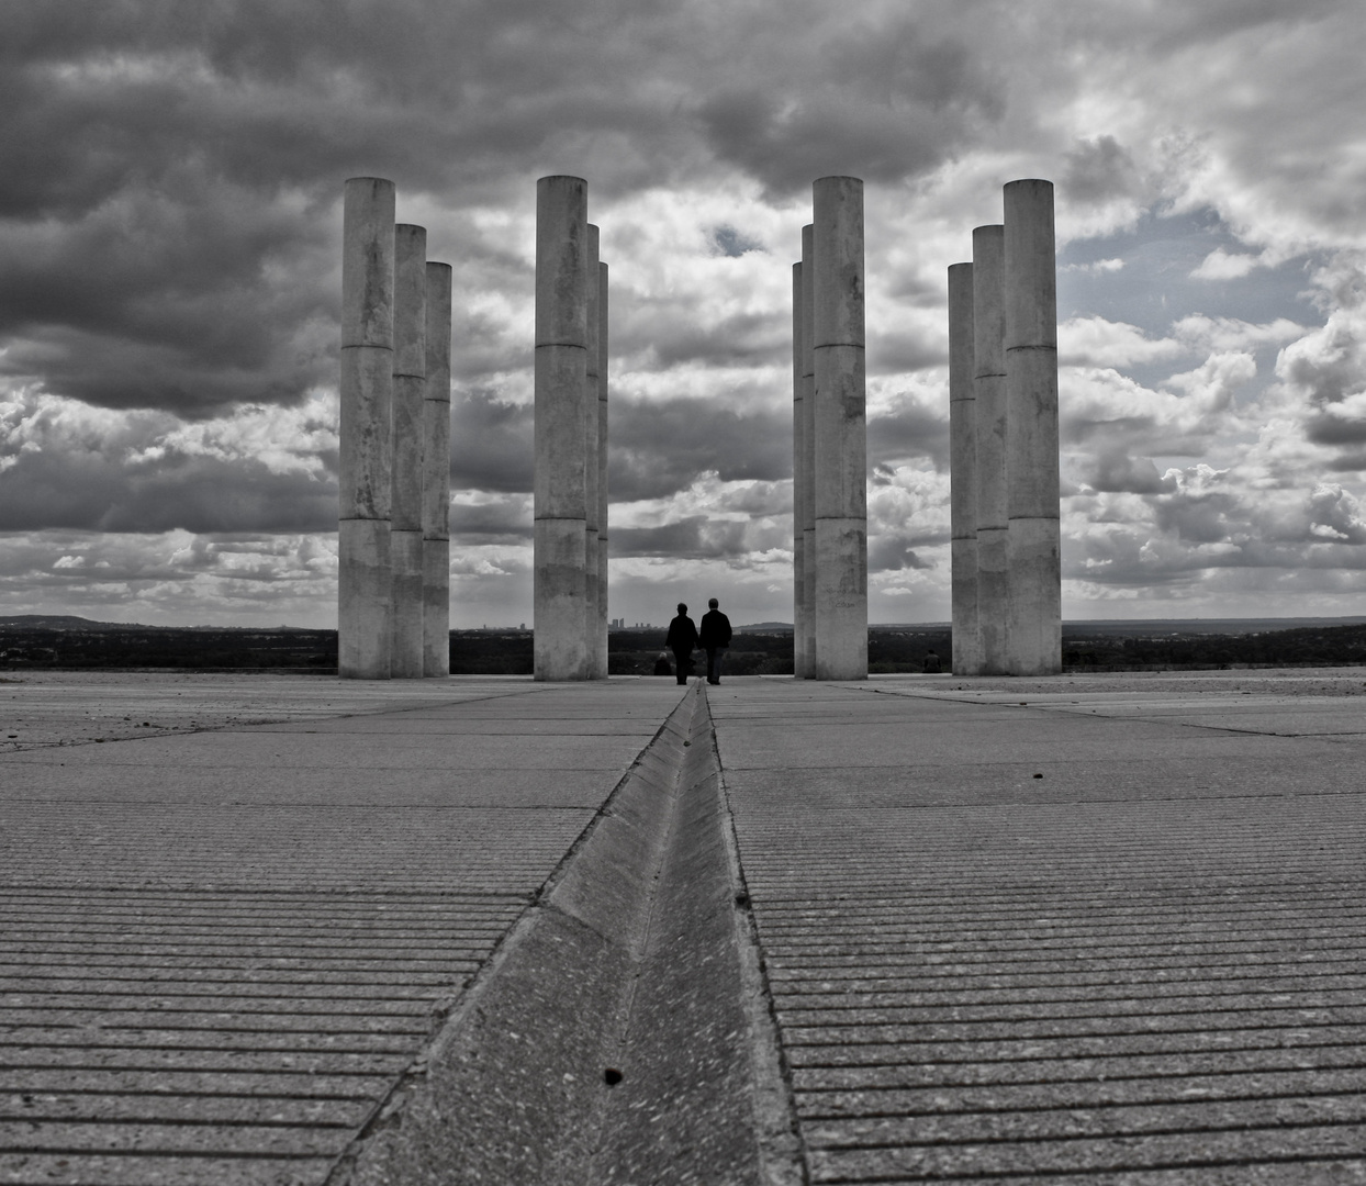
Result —
POLYGON ((1366 1182, 1366 672, 682 691, 0 685, 0 1182, 1366 1182))

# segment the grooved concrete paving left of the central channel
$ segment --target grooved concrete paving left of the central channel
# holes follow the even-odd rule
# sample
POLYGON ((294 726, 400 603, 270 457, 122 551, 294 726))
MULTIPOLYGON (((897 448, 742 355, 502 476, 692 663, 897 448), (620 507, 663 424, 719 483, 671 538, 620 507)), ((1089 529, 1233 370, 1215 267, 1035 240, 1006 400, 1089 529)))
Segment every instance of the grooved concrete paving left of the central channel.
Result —
POLYGON ((320 1183, 682 690, 3 691, 0 1182, 320 1183))

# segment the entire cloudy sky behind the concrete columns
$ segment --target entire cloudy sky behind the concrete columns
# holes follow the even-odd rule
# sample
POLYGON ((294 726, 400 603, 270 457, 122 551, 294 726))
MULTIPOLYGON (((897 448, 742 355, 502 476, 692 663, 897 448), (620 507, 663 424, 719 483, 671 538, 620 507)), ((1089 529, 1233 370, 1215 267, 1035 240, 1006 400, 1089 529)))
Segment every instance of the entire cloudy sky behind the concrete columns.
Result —
POLYGON ((455 269, 452 623, 531 618, 535 179, 611 613, 791 620, 791 262, 865 179, 869 616, 948 618, 945 269, 1055 182, 1063 611, 1366 613, 1361 0, 7 0, 0 613, 336 623, 342 186, 455 269))

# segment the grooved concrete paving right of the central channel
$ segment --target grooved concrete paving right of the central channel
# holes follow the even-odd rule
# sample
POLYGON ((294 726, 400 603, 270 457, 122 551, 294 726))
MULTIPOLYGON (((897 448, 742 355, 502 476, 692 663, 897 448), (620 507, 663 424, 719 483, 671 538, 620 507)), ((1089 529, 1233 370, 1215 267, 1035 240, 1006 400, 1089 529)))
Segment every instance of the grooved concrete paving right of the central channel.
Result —
POLYGON ((709 689, 813 1181, 1366 1182, 1362 683, 709 689))

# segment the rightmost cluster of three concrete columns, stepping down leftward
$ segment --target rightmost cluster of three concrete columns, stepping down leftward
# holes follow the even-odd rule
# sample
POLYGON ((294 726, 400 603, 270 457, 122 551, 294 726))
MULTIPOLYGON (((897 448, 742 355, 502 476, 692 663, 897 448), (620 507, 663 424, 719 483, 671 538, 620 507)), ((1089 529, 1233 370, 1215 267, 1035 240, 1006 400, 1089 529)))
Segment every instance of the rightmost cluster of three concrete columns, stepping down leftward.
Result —
POLYGON ((1063 661, 1053 186, 1004 198, 948 269, 955 675, 1063 661))

